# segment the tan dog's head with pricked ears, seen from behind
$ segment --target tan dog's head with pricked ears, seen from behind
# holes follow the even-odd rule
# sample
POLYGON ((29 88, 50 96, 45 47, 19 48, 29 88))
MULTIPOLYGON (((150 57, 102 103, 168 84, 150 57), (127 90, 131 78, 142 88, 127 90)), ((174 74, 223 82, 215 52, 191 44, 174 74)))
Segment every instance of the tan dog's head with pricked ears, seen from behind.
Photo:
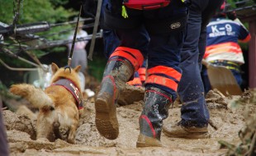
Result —
POLYGON ((78 72, 80 71, 81 66, 77 66, 75 68, 71 68, 71 72, 69 69, 64 70, 64 67, 59 68, 54 62, 51 63, 51 71, 52 71, 52 78, 50 80, 50 84, 56 82, 59 79, 69 79, 72 80, 75 85, 79 86, 80 88, 80 80, 78 76, 78 72))

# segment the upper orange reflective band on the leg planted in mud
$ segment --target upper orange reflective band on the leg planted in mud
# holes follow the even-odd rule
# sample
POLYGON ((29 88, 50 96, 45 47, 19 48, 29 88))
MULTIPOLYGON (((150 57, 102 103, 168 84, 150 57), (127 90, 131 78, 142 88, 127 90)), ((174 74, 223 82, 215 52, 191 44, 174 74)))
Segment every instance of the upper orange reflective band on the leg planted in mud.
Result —
POLYGON ((147 72, 149 76, 153 74, 164 74, 166 76, 173 77, 178 81, 180 81, 182 78, 182 74, 173 69, 172 67, 157 66, 150 68, 147 72))

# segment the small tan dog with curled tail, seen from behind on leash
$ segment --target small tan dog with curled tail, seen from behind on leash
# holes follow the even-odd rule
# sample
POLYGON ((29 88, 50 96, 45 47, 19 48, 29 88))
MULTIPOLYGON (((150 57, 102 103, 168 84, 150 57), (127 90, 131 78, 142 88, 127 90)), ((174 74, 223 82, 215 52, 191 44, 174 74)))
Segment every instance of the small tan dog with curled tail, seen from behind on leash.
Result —
POLYGON ((78 128, 79 110, 83 108, 78 71, 81 66, 64 70, 52 63, 53 76, 45 90, 34 85, 12 85, 10 92, 27 99, 39 108, 36 122, 36 139, 67 140, 74 144, 78 128))

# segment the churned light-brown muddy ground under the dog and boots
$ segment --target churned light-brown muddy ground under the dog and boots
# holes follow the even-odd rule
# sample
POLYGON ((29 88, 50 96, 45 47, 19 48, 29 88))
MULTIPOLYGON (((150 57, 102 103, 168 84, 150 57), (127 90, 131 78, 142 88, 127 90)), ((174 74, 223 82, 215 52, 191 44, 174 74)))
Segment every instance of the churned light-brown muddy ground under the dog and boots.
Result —
MULTIPOLYGON (((221 149, 218 141, 225 140, 238 145, 239 130, 244 127, 246 118, 254 115, 256 110, 254 101, 248 100, 252 98, 249 93, 244 93, 243 96, 225 97, 217 91, 211 91, 206 99, 211 113, 210 139, 169 138, 163 133, 161 140, 164 147, 137 149, 135 144, 139 135, 138 118, 142 109, 143 92, 143 89, 126 87, 126 93, 121 95, 117 108, 120 135, 116 140, 107 140, 97 132, 93 98, 86 100, 76 135, 76 145, 69 145, 63 140, 55 142, 35 140, 36 122, 17 112, 5 110, 3 117, 11 155, 225 155, 228 149, 221 149), (237 99, 242 102, 236 101, 237 99), (245 104, 234 107, 235 103, 245 104)), ((12 100, 10 103, 15 105, 21 101, 12 100)), ((169 108, 169 117, 164 124, 179 120, 180 104, 176 102, 173 108, 169 108)))

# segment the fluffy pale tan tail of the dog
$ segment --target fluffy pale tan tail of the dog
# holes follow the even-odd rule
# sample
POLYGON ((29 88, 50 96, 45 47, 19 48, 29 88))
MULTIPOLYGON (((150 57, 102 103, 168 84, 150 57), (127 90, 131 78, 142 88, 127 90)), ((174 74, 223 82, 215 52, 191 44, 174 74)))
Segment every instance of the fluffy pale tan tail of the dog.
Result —
POLYGON ((28 100, 35 108, 52 110, 55 105, 52 99, 45 94, 42 89, 36 88, 34 85, 18 84, 12 85, 10 88, 12 94, 20 95, 28 100))

